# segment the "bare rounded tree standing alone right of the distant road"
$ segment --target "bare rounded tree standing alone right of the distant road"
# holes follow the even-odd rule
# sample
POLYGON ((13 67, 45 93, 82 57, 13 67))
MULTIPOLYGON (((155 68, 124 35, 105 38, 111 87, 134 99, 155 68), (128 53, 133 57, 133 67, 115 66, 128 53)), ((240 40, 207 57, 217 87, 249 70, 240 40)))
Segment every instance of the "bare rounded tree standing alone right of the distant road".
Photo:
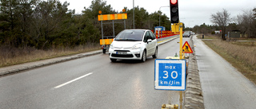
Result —
POLYGON ((222 40, 226 40, 226 26, 230 23, 230 13, 225 9, 222 12, 218 11, 216 14, 211 14, 211 21, 222 29, 222 40))

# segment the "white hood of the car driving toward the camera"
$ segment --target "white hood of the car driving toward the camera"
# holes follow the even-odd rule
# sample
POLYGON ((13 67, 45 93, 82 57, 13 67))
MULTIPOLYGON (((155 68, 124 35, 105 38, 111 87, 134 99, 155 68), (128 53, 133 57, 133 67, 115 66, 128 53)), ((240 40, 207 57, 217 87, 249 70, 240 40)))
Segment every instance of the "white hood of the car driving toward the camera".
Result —
POLYGON ((132 48, 134 45, 141 44, 141 41, 113 41, 111 45, 114 48, 132 48))

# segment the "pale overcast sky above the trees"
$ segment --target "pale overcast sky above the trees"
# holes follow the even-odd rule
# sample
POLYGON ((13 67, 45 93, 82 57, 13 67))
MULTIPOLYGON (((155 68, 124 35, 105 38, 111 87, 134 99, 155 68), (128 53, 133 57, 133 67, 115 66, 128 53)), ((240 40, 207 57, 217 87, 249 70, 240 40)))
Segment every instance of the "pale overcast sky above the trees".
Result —
MULTIPOLYGON (((76 14, 82 14, 84 7, 88 8, 92 0, 59 0, 60 2, 70 2, 68 7, 75 10, 76 14)), ((114 10, 122 11, 123 7, 133 8, 133 0, 104 0, 107 5, 111 5, 114 10)), ((154 13, 161 6, 170 6, 169 0, 134 0, 134 6, 143 7, 147 12, 154 13)), ((256 8, 256 0, 178 0, 179 18, 185 26, 213 25, 210 22, 210 15, 216 14, 223 9, 230 13, 231 18, 243 11, 256 8)), ((161 11, 170 18, 170 8, 162 7, 161 11)))

